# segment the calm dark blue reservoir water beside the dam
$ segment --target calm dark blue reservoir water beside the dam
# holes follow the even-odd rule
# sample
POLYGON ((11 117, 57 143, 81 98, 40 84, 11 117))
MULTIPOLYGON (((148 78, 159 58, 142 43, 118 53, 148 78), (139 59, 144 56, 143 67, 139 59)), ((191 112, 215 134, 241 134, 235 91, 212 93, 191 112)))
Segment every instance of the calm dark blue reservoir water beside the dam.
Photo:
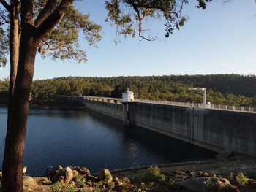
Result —
MULTIPOLYGON (((0 107, 0 159, 4 151, 7 109, 0 107)), ((214 158, 216 153, 144 128, 85 110, 30 110, 24 165, 42 176, 47 166, 122 169, 214 158)))

